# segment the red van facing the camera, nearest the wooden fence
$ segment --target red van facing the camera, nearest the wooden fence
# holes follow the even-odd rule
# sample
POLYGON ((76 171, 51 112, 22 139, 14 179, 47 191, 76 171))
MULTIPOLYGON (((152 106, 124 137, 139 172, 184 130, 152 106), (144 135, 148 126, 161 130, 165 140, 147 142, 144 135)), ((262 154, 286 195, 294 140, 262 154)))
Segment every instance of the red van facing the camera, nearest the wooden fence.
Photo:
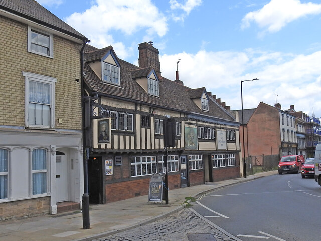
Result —
POLYGON ((283 156, 279 162, 278 172, 279 174, 282 174, 283 172, 299 173, 303 164, 303 155, 283 156))

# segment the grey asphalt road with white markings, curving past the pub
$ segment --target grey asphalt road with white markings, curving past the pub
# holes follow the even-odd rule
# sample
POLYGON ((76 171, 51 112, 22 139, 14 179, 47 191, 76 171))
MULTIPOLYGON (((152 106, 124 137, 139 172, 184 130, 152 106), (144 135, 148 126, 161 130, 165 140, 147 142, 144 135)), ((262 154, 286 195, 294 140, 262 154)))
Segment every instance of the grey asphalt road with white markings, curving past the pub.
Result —
POLYGON ((193 204, 195 211, 241 240, 321 240, 321 188, 301 174, 224 187, 193 204))

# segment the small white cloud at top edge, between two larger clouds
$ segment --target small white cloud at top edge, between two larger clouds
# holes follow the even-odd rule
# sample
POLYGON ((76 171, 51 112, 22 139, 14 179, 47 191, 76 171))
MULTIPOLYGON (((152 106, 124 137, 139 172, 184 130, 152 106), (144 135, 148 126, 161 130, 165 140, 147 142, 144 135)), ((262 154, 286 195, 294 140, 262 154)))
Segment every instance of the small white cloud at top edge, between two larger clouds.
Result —
POLYGON ((172 12, 172 19, 174 21, 184 21, 186 16, 197 6, 202 4, 202 0, 187 0, 184 4, 179 3, 177 0, 170 0, 170 9, 172 12), (183 13, 176 13, 176 10, 183 10, 183 13))

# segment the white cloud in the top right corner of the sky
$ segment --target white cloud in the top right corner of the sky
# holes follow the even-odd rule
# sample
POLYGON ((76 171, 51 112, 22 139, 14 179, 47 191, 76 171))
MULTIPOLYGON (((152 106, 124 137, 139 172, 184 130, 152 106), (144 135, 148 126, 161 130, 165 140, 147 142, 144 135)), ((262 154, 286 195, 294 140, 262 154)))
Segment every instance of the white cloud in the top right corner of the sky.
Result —
POLYGON ((246 14, 241 27, 247 28, 253 21, 265 29, 264 32, 273 33, 296 19, 320 13, 321 4, 301 3, 300 0, 271 0, 262 9, 246 14))

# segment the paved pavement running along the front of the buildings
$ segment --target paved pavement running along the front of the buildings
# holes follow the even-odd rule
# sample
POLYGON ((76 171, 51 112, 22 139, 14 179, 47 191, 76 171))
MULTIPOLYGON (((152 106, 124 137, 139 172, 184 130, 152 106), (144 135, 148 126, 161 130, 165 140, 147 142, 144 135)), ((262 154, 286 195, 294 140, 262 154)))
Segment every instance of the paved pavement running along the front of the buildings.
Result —
POLYGON ((277 170, 219 182, 169 190, 169 204, 148 202, 148 195, 90 205, 90 228, 83 229, 81 210, 0 222, 0 241, 90 241, 165 218, 187 205, 185 197, 277 174, 277 170))

